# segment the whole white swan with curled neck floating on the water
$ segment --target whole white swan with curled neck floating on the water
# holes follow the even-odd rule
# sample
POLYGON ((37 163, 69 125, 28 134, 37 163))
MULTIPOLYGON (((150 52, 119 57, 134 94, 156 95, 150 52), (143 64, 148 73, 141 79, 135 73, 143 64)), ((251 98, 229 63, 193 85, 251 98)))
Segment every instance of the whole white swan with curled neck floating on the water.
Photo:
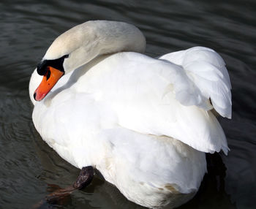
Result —
POLYGON ((64 32, 31 75, 32 119, 73 166, 98 170, 138 205, 176 208, 195 196, 205 153, 229 151, 213 111, 231 118, 230 77, 207 47, 159 58, 145 47, 123 22, 64 32))

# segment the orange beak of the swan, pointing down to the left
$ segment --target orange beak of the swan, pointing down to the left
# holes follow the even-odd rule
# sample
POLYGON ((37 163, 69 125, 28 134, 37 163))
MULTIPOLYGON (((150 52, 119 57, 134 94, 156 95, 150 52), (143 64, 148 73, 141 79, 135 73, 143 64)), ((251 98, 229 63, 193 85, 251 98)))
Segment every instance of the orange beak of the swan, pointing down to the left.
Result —
POLYGON ((42 82, 37 87, 36 91, 34 91, 34 99, 37 101, 44 99, 62 75, 64 75, 64 72, 52 66, 48 66, 46 74, 42 77, 42 82))

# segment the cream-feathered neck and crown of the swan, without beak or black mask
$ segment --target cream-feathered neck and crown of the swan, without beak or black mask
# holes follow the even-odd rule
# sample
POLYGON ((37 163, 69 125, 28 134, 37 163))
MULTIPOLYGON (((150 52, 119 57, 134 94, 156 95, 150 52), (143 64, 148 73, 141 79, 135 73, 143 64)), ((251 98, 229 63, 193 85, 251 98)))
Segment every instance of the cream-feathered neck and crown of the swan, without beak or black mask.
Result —
POLYGON ((50 45, 44 59, 68 55, 65 72, 88 63, 97 56, 131 51, 144 53, 146 39, 142 32, 128 23, 96 20, 69 29, 50 45))

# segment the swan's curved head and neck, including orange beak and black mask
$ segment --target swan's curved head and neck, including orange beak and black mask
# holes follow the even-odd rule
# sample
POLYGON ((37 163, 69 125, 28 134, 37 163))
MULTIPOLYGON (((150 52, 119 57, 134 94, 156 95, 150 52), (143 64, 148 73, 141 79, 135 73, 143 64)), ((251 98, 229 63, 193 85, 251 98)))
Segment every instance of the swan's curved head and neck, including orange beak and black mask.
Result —
POLYGON ((143 53, 146 39, 141 31, 128 23, 94 20, 82 23, 57 37, 37 66, 43 75, 34 91, 34 99, 42 100, 58 80, 97 56, 132 51, 143 53))

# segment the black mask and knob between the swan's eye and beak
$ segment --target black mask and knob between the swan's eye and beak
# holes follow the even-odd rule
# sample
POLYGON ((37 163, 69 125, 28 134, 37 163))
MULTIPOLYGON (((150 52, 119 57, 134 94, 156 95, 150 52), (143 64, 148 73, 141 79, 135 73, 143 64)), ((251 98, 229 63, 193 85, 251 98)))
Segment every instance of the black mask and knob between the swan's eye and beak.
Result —
MULTIPOLYGON (((45 75, 47 73, 48 66, 52 66, 56 69, 59 69, 59 71, 64 72, 63 62, 64 62, 64 59, 68 58, 68 57, 69 57, 69 55, 64 55, 64 56, 61 56, 61 58, 49 59, 49 60, 45 59, 45 60, 41 61, 37 65, 37 73, 39 75, 45 75)), ((50 77, 50 75, 49 75, 49 77, 50 77)))

